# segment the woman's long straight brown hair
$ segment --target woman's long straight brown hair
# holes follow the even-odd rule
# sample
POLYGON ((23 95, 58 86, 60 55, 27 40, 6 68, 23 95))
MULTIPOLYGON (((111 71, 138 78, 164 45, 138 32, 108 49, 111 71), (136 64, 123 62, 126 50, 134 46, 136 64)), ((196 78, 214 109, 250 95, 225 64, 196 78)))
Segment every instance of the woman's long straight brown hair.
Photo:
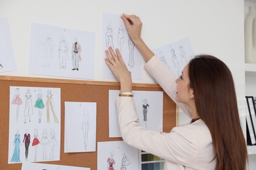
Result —
POLYGON ((245 170, 247 147, 230 70, 223 61, 209 55, 196 56, 188 69, 198 116, 213 139, 217 158, 215 169, 245 170))

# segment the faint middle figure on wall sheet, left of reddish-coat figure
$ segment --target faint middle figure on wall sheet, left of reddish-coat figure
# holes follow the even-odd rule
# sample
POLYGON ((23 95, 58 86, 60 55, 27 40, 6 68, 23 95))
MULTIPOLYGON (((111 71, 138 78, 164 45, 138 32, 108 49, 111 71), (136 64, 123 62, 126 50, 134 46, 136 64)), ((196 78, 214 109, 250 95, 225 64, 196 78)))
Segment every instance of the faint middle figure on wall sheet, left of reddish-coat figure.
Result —
POLYGON ((58 44, 58 60, 60 63, 60 69, 66 69, 66 59, 68 58, 68 42, 65 41, 65 37, 61 37, 61 41, 58 44))

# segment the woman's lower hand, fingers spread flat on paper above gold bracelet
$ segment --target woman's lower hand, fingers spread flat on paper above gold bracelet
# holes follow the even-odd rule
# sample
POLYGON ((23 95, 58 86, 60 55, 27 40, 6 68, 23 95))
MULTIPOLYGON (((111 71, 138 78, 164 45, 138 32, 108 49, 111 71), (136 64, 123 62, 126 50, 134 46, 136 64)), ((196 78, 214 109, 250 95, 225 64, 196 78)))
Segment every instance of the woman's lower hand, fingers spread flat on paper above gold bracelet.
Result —
POLYGON ((116 48, 116 53, 112 47, 109 47, 108 50, 105 51, 107 57, 105 59, 105 63, 108 65, 108 67, 110 67, 111 71, 120 81, 121 93, 131 92, 131 72, 127 69, 125 63, 123 62, 123 58, 121 57, 119 50, 116 48))

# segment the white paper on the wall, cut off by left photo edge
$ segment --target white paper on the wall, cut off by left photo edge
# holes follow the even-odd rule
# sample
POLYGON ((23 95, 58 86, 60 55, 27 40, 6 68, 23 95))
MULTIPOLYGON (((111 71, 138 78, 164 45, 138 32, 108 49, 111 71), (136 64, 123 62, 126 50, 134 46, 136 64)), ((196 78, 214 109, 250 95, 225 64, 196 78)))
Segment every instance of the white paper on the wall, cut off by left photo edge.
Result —
POLYGON ((11 33, 7 18, 0 18, 0 72, 15 71, 11 33))

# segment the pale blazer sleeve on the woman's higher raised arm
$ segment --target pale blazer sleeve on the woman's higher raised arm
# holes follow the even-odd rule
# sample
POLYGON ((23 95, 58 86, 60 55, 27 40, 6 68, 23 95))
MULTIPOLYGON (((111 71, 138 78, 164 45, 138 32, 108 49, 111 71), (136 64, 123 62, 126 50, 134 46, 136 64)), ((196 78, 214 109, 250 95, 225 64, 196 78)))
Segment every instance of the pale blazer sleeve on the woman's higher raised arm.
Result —
POLYGON ((190 118, 192 118, 192 114, 188 111, 188 107, 182 103, 178 103, 175 100, 176 92, 177 92, 177 84, 175 82, 175 75, 168 69, 168 67, 161 61, 158 56, 154 56, 151 58, 146 65, 144 66, 146 71, 150 73, 150 75, 155 78, 156 82, 160 84, 161 88, 173 99, 173 101, 181 108, 181 110, 186 113, 190 118))

